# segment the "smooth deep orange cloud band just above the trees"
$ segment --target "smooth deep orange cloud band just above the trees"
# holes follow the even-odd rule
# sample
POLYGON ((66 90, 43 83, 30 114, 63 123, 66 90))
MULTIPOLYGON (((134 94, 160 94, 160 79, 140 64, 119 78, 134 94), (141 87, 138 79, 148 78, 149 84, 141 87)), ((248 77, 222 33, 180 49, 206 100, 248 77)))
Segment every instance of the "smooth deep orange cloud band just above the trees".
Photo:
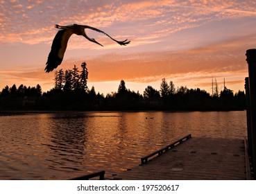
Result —
MULTIPOLYGON (((62 67, 71 68, 73 64, 81 62, 83 61, 64 62, 62 67)), ((163 77, 187 73, 203 73, 211 76, 218 73, 246 72, 244 53, 233 56, 232 51, 223 53, 218 50, 101 55, 86 62, 89 78, 93 82, 121 79, 153 82, 163 77)))

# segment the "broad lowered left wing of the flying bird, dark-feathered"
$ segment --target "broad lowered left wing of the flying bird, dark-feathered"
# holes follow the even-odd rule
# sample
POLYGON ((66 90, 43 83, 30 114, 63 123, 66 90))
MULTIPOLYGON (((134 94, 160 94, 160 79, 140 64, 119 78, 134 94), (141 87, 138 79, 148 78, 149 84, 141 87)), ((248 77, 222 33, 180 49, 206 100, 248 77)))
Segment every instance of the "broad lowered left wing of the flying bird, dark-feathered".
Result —
POLYGON ((53 69, 56 69, 61 64, 67 48, 67 42, 72 34, 70 30, 59 30, 54 37, 51 52, 49 53, 44 69, 47 73, 53 71, 53 69))

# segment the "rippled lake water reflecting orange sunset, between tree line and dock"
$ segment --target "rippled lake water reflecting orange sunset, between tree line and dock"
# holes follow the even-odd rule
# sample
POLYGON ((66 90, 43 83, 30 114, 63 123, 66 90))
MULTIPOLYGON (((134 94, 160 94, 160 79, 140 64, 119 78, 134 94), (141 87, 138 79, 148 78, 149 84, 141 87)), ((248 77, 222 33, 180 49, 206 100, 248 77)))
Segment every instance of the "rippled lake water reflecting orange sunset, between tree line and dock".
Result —
POLYGON ((0 116, 0 179, 69 179, 99 170, 111 175, 187 134, 244 139, 246 127, 245 111, 0 116))

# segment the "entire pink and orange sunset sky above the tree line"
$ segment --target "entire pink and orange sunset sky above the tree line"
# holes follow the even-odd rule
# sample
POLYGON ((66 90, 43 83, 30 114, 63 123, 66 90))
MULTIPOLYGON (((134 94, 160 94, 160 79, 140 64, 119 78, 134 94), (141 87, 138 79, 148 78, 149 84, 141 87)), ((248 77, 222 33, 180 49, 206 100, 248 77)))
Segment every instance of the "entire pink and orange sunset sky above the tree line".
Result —
POLYGON ((244 90, 246 50, 256 48, 256 1, 0 1, 0 91, 8 85, 53 88, 54 71, 45 73, 55 24, 99 28, 115 39, 86 30, 104 47, 72 35, 58 69, 87 63, 88 87, 117 91, 120 80, 143 94, 162 78, 176 87, 212 91, 244 90))

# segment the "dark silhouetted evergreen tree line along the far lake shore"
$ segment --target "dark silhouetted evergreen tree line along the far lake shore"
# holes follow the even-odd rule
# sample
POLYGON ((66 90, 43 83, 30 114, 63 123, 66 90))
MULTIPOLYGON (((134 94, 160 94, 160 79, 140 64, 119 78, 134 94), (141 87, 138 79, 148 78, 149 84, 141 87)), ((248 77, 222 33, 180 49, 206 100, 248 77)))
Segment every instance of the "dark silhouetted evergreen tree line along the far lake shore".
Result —
POLYGON ((6 86, 0 91, 0 110, 42 109, 42 110, 243 110, 246 109, 244 91, 234 92, 227 87, 219 95, 211 96, 202 89, 175 87, 165 78, 160 90, 148 85, 143 94, 130 91, 121 80, 116 92, 104 96, 95 88, 87 88, 87 69, 78 71, 74 66, 65 72, 56 71, 54 87, 42 92, 40 85, 6 86))

